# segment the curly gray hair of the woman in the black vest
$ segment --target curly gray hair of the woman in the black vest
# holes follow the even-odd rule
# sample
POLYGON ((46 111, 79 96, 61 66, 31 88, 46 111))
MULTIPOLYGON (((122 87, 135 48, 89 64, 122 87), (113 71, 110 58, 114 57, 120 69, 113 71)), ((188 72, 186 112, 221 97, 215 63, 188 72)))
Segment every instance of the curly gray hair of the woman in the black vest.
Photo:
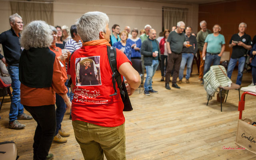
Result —
POLYGON ((42 20, 30 22, 23 30, 20 45, 26 50, 29 48, 46 48, 52 44, 52 30, 42 20))

